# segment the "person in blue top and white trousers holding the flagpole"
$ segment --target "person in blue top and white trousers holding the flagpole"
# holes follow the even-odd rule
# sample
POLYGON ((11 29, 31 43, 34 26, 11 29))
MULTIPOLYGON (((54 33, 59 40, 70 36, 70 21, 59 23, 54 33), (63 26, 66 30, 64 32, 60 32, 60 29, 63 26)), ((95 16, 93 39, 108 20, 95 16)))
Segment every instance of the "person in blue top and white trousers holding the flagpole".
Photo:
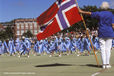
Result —
POLYGON ((111 68, 110 56, 112 40, 114 38, 114 14, 109 9, 108 2, 103 2, 101 5, 103 11, 87 12, 79 9, 82 14, 90 15, 92 18, 96 18, 98 22, 98 37, 101 49, 102 67, 103 69, 111 68))

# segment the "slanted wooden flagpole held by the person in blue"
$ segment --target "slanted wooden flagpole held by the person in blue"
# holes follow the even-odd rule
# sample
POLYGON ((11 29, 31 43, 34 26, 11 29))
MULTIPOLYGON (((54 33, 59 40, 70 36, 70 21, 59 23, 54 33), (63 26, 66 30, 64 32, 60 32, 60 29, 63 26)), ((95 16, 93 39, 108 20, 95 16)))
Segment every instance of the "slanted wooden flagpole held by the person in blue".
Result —
MULTIPOLYGON (((77 0, 75 0, 75 2, 76 2, 77 7, 79 8, 78 3, 77 3, 77 0)), ((90 37, 89 37, 89 33, 88 33, 88 29, 87 29, 87 26, 86 26, 84 17, 83 17, 83 15, 82 15, 81 13, 80 13, 80 16, 81 16, 81 18, 82 18, 84 27, 85 27, 85 29, 86 29, 87 36, 88 36, 88 38, 89 38, 89 40, 90 40, 90 43, 91 43, 91 46, 92 46, 92 49, 93 49, 93 52, 94 52, 94 55, 95 55, 95 59, 96 59, 97 65, 98 65, 98 67, 99 67, 99 62, 98 62, 98 59, 97 59, 97 55, 96 55, 96 53, 95 53, 95 49, 94 49, 94 47, 93 47, 92 41, 91 41, 91 39, 90 39, 90 37)))

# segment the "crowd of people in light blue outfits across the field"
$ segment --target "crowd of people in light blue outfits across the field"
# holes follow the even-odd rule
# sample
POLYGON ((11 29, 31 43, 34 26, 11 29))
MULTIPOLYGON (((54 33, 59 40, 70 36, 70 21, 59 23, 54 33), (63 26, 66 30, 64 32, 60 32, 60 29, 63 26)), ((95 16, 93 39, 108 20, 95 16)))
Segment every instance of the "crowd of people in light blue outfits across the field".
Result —
MULTIPOLYGON (((27 55, 27 57, 29 57, 29 53, 31 52, 34 56, 49 54, 49 57, 52 57, 55 53, 58 54, 59 57, 61 57, 63 53, 66 55, 75 53, 77 56, 83 54, 90 55, 92 49, 95 49, 96 52, 100 50, 96 30, 90 32, 90 39, 94 48, 92 48, 85 31, 57 33, 40 41, 22 36, 21 39, 17 38, 16 40, 0 40, 0 55, 18 55, 18 57, 27 55)), ((112 43, 112 47, 114 47, 114 40, 112 43)))

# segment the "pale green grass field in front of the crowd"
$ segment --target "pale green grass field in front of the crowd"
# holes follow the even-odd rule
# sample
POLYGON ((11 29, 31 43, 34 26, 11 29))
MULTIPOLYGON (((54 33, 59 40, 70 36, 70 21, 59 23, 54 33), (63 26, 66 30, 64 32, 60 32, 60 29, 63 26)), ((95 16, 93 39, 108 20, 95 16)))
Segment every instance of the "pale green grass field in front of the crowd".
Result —
MULTIPOLYGON (((97 56, 101 64, 100 53, 97 56)), ((102 73, 97 76, 114 76, 114 49, 111 64, 111 69, 102 70, 101 67, 97 67, 94 55, 30 55, 30 58, 3 55, 0 56, 0 76, 92 76, 99 71, 102 73)))

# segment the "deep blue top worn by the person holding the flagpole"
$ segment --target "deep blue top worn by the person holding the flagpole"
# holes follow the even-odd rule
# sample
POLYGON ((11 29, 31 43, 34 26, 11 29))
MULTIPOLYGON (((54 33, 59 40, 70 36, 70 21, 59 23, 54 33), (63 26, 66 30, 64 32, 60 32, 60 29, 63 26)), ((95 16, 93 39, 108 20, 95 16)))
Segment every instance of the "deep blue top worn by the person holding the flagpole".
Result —
POLYGON ((99 23, 98 36, 100 38, 114 38, 112 23, 114 23, 114 15, 109 11, 92 12, 92 18, 96 18, 99 23))

